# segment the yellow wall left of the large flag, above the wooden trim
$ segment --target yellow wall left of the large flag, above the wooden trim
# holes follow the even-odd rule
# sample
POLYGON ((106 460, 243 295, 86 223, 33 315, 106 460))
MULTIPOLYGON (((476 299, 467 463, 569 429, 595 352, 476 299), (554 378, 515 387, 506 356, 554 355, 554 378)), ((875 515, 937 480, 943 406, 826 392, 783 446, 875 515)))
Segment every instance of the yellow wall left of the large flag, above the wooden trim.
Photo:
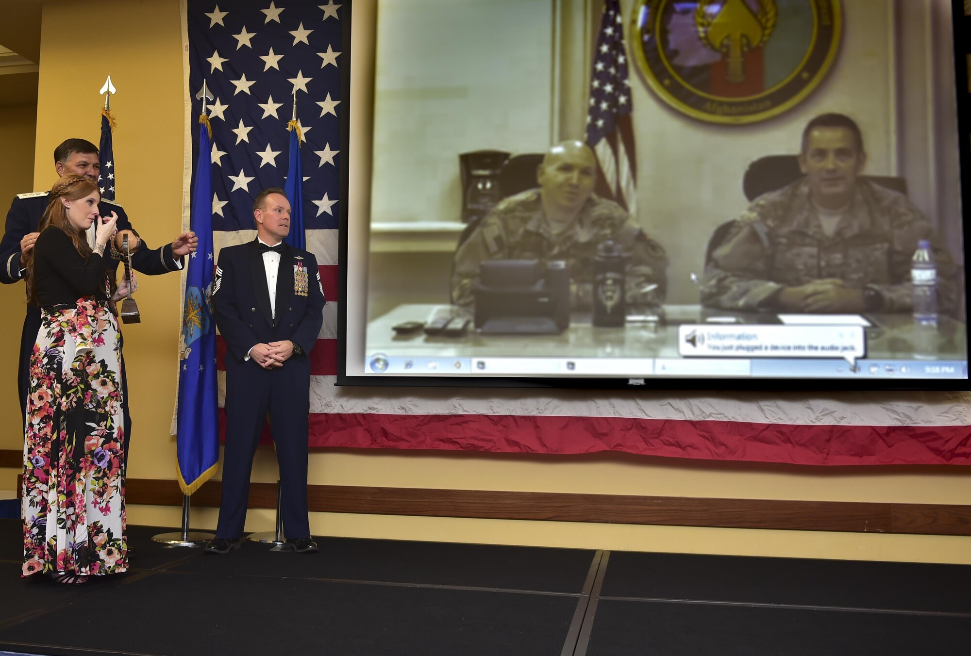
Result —
MULTIPOLYGON (((172 241, 182 222, 181 50, 178 2, 47 4, 41 37, 44 63, 38 89, 36 157, 33 182, 28 180, 26 188, 50 188, 56 180, 51 153, 64 139, 81 137, 98 143, 103 106, 98 89, 111 73, 118 90, 112 100, 117 115, 118 202, 151 246, 172 241), (110 65, 88 65, 94 58, 89 51, 79 53, 76 35, 80 32, 114 35, 99 46, 109 49, 110 65)), ((142 277, 138 293, 142 323, 122 328, 135 425, 130 476, 175 476, 174 439, 168 436, 168 428, 176 386, 179 283, 175 275, 142 277)), ((19 284, 3 291, 8 288, 22 297, 19 284)), ((15 352, 19 317, 4 322, 2 330, 4 343, 11 344, 10 350, 15 352)), ((4 409, 8 410, 5 416, 13 417, 17 364, 14 358, 8 359, 0 379, 4 409)), ((21 447, 17 423, 10 421, 0 431, 0 448, 21 447)), ((9 480, 0 479, 0 488, 13 488, 9 480)))

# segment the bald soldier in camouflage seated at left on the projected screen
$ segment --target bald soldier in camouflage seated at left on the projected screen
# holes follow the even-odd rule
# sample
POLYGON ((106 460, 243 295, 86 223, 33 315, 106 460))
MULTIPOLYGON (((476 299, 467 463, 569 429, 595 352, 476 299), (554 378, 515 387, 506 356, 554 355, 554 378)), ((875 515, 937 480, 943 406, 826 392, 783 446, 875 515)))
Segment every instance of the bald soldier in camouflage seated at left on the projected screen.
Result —
POLYGON ((592 193, 596 159, 582 142, 552 147, 537 171, 539 188, 503 199, 455 251, 452 302, 471 305, 484 260, 563 260, 570 271, 571 307, 592 305, 597 246, 610 239, 626 256, 628 309, 643 312, 664 300, 664 248, 617 203, 592 193))

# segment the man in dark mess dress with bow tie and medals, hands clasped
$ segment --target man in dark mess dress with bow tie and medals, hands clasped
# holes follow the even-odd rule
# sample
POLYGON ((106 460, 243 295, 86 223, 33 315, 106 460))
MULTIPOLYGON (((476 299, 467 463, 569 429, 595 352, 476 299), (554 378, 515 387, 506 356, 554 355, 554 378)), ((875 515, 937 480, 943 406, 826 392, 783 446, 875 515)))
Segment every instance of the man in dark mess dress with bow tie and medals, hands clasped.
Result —
POLYGON ((219 252, 213 282, 216 325, 226 342, 226 446, 216 538, 208 553, 240 544, 252 456, 270 416, 280 465, 286 542, 314 553, 307 508, 311 348, 323 323, 323 287, 314 255, 284 244, 290 204, 278 187, 253 202, 256 239, 219 252))

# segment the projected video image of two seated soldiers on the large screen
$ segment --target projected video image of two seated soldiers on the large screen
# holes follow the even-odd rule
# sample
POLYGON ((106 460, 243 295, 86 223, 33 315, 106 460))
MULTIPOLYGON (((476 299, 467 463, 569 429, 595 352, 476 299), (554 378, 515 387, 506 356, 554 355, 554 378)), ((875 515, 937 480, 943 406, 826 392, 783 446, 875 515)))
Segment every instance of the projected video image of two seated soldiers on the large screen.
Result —
POLYGON ((953 15, 381 2, 348 375, 966 384, 953 15))

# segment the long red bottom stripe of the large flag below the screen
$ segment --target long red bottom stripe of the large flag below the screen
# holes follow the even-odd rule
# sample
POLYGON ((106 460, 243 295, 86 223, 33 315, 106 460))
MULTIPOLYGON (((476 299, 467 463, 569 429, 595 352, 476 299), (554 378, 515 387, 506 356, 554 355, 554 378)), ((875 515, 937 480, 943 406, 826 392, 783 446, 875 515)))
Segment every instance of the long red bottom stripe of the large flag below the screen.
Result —
POLYGON ((967 426, 844 426, 612 416, 312 413, 310 445, 592 453, 795 465, 971 465, 967 426))

